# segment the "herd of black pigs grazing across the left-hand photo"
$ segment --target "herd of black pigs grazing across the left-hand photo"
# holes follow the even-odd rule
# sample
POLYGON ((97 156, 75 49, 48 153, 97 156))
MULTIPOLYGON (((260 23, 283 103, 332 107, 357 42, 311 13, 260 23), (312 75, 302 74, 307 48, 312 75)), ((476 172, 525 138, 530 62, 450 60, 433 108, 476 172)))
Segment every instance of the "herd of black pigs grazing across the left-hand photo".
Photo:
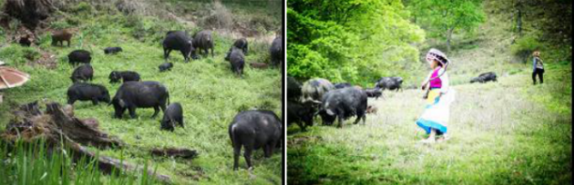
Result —
MULTIPOLYGON (((60 30, 52 33, 52 44, 70 44, 72 34, 69 30, 60 30)), ((173 63, 168 63, 169 53, 179 51, 185 63, 190 59, 196 60, 199 51, 203 57, 214 57, 214 40, 208 30, 189 36, 184 31, 169 31, 163 42, 165 63, 159 65, 159 72, 170 71, 173 63)), ((124 52, 121 47, 108 47, 105 54, 118 54, 124 52)), ((231 45, 225 60, 231 63, 231 72, 241 76, 245 63, 245 54, 248 52, 247 39, 241 38, 231 45)), ((276 37, 270 48, 271 65, 278 67, 283 61, 282 36, 276 37)), ((91 101, 94 105, 98 102, 107 102, 114 107, 114 117, 121 119, 124 112, 128 111, 131 118, 136 118, 137 108, 154 108, 152 118, 155 118, 159 110, 163 114, 159 128, 161 130, 174 131, 175 126, 184 128, 183 109, 179 102, 169 102, 168 88, 159 82, 141 81, 137 72, 113 71, 109 74, 109 83, 122 83, 113 98, 110 98, 108 89, 100 84, 86 83, 94 77, 94 68, 90 65, 92 56, 86 50, 75 50, 67 55, 68 62, 78 66, 72 76, 72 85, 67 90, 67 103, 73 105, 77 101, 91 101), (167 106, 167 107, 166 107, 167 106)), ((255 66, 261 68, 261 63, 255 66)), ((251 65, 253 66, 253 65, 251 65)), ((266 63, 265 63, 266 66, 266 63)), ((283 136, 282 121, 271 111, 244 111, 239 112, 229 126, 229 135, 233 147, 234 164, 233 170, 239 167, 241 148, 244 148, 244 157, 248 168, 251 169, 251 151, 263 149, 265 157, 271 157, 272 151, 281 147, 283 136)))

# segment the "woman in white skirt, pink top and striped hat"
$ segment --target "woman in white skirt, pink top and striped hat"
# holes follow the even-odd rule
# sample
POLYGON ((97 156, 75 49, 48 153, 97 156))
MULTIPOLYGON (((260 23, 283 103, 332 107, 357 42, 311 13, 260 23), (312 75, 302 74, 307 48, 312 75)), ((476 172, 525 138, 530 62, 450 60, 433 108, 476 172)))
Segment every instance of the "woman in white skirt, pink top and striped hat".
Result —
POLYGON ((426 90, 426 107, 416 124, 428 134, 428 138, 422 142, 446 141, 449 139, 446 135, 449 106, 455 100, 455 91, 450 88, 446 73, 446 67, 450 61, 446 58, 446 54, 431 49, 426 54, 426 62, 432 71, 421 85, 422 89, 426 90))

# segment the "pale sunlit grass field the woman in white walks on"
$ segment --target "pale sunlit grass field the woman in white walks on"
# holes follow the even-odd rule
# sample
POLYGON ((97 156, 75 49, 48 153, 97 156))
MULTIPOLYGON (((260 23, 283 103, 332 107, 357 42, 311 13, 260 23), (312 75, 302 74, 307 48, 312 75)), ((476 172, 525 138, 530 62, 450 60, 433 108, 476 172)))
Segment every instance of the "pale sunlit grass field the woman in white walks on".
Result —
POLYGON ((365 125, 291 126, 288 183, 569 183, 571 101, 554 91, 571 95, 571 76, 549 70, 546 83, 533 86, 529 74, 454 86, 451 139, 434 145, 417 142, 425 137, 415 124, 425 103, 420 90, 369 99, 379 110, 365 125))

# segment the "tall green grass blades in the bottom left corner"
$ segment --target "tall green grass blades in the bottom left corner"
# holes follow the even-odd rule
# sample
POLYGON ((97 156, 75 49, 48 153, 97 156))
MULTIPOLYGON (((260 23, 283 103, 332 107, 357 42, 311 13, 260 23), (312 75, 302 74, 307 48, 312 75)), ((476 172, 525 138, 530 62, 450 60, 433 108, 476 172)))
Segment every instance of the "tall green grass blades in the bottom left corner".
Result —
POLYGON ((114 170, 104 175, 97 159, 73 160, 71 151, 52 150, 45 141, 0 142, 0 184, 156 184, 148 177, 148 166, 141 173, 114 170))

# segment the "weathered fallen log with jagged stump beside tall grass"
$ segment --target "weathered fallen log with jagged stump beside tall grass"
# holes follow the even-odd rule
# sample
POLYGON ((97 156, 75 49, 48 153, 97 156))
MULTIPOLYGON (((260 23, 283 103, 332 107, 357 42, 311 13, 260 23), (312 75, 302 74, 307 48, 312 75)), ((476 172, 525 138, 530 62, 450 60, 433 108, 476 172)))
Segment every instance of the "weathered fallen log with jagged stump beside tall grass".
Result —
MULTIPOLYGON (((20 106, 14 113, 15 118, 8 123, 5 131, 0 132, 0 138, 9 143, 18 140, 33 142, 46 141, 48 151, 68 149, 74 153, 74 161, 81 158, 97 159, 98 169, 110 174, 112 171, 141 171, 142 168, 125 161, 98 156, 83 145, 97 148, 118 148, 125 146, 123 141, 109 136, 97 129, 96 119, 78 119, 73 115, 73 108, 62 109, 57 102, 46 104, 46 112, 39 112, 37 102, 20 106)), ((148 170, 150 176, 170 182, 169 176, 148 170)))

